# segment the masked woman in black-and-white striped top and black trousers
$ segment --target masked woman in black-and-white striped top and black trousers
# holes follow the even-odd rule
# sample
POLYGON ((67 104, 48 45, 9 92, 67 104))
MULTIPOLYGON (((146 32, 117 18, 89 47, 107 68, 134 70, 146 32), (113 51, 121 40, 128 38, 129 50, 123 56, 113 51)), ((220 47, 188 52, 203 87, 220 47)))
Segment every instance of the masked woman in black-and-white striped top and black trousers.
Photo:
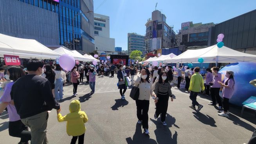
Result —
POLYGON ((168 100, 171 97, 173 101, 173 95, 171 93, 171 83, 169 83, 168 74, 166 71, 162 71, 159 74, 159 80, 155 83, 155 103, 157 109, 155 111, 154 118, 157 119, 161 114, 161 122, 166 126, 165 118, 168 109, 168 100))

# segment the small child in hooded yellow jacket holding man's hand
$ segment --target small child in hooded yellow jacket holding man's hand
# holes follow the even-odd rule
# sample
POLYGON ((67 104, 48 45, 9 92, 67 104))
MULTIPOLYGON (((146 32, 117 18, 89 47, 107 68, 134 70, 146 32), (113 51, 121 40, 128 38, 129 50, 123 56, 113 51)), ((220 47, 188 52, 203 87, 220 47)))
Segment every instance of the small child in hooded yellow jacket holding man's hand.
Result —
POLYGON ((57 110, 57 119, 59 122, 67 121, 67 134, 72 135, 73 138, 70 144, 83 144, 85 137, 85 122, 88 121, 88 117, 85 112, 81 111, 81 104, 78 100, 71 101, 69 105, 69 112, 67 115, 62 116, 61 109, 57 110))

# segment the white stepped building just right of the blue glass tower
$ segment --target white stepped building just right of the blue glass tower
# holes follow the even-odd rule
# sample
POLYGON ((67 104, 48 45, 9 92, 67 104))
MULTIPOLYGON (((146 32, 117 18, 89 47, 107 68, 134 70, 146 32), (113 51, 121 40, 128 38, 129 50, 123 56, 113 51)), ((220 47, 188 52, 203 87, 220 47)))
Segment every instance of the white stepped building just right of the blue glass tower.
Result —
POLYGON ((109 16, 94 13, 95 50, 114 52, 115 39, 110 38, 109 16))

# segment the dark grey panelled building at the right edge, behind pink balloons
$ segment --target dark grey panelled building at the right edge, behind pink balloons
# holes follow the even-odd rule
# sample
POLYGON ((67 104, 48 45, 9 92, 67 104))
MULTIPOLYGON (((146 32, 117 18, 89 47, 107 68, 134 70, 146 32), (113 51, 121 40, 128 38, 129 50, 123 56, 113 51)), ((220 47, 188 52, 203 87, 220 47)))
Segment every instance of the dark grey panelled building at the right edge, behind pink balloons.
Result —
POLYGON ((211 27, 208 46, 217 43, 218 34, 224 34, 226 47, 256 54, 256 9, 211 27))

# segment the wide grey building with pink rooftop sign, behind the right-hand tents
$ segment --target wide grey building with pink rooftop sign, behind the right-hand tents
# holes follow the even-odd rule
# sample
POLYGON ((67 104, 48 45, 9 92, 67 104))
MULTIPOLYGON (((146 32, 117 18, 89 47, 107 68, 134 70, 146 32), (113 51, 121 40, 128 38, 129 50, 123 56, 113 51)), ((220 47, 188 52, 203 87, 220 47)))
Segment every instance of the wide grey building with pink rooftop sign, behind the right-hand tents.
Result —
POLYGON ((184 22, 181 23, 181 30, 176 35, 177 45, 191 46, 207 46, 209 27, 212 27, 214 23, 193 23, 184 22))

